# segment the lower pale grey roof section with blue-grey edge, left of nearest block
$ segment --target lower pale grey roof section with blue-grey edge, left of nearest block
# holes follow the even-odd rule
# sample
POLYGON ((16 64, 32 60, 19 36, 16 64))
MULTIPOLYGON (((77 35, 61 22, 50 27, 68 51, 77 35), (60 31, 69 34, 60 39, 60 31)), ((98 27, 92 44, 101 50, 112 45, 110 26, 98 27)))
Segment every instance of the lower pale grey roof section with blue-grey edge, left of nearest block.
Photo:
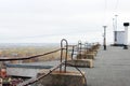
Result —
POLYGON ((36 77, 37 73, 42 69, 51 69, 52 66, 38 64, 6 64, 6 74, 12 76, 36 77))

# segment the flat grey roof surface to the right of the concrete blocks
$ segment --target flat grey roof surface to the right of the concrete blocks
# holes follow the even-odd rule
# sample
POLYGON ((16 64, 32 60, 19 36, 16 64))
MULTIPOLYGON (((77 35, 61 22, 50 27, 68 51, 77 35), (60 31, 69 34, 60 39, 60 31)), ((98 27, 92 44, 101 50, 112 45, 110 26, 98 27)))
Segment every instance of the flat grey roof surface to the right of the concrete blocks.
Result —
POLYGON ((101 46, 94 68, 84 69, 88 86, 130 86, 130 47, 101 46))

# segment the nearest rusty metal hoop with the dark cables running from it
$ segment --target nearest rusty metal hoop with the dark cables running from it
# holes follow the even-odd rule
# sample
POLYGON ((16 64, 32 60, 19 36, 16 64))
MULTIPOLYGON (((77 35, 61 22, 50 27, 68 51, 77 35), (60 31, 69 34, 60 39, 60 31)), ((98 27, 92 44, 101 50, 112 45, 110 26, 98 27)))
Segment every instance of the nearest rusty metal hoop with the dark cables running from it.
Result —
MULTIPOLYGON (((73 46, 73 48, 74 48, 74 46, 73 46)), ((52 51, 52 52, 48 52, 48 53, 44 53, 44 54, 40 54, 40 55, 30 56, 30 57, 24 57, 24 58, 15 58, 15 57, 13 57, 13 58, 5 58, 4 57, 4 58, 0 58, 0 61, 26 60, 26 59, 31 59, 31 58, 37 58, 37 57, 46 56, 46 55, 49 55, 49 54, 52 54, 52 53, 56 53, 56 52, 60 52, 60 51, 61 51, 61 60, 60 60, 61 63, 60 64, 57 64, 56 67, 54 67, 51 70, 49 70, 48 73, 46 73, 43 75, 40 75, 38 77, 32 77, 32 78, 30 78, 28 81, 25 81, 25 82, 18 84, 17 86, 28 86, 28 85, 31 85, 31 84, 38 82, 39 80, 41 80, 42 77, 46 77, 46 76, 50 75, 53 71, 55 71, 58 68, 60 68, 60 72, 62 72, 62 66, 64 66, 64 72, 66 72, 66 67, 67 66, 76 68, 79 71, 79 73, 82 75, 82 77, 84 78, 84 82, 87 84, 86 76, 82 74, 82 72, 77 67, 75 67, 75 66, 73 66, 70 63, 67 63, 68 42, 65 39, 63 39, 61 41, 61 48, 58 48, 58 49, 55 49, 55 51, 52 51), (64 43, 65 43, 65 45, 64 45, 64 43), (63 52, 64 51, 65 51, 65 59, 63 59, 63 54, 64 54, 63 52)))

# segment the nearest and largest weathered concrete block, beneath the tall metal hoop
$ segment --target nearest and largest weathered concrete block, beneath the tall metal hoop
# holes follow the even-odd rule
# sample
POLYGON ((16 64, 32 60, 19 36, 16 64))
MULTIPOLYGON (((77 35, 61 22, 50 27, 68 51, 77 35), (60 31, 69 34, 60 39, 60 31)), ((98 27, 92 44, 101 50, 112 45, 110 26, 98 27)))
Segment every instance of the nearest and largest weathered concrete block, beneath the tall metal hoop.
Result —
MULTIPOLYGON (((41 75, 43 73, 39 73, 41 75)), ((82 72, 84 75, 84 72, 82 72)), ((35 86, 87 86, 86 78, 79 72, 60 72, 54 71, 46 77, 42 77, 35 86)))

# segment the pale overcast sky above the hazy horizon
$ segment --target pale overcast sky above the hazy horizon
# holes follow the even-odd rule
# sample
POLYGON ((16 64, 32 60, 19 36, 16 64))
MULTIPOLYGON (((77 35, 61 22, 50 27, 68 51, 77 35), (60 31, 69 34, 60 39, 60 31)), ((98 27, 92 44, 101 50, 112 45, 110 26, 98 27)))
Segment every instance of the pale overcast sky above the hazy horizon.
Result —
POLYGON ((103 26, 107 43, 113 43, 113 18, 118 15, 117 30, 123 30, 123 23, 130 22, 129 4, 130 0, 0 0, 0 43, 103 43, 103 26))

